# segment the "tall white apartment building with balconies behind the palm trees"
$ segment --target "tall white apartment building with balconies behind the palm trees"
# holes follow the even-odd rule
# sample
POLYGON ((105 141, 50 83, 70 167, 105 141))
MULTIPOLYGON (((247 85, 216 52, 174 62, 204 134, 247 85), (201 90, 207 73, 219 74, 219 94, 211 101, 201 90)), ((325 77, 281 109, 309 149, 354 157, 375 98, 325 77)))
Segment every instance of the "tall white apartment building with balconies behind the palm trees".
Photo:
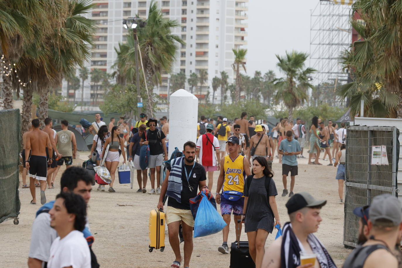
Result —
MULTIPOLYGON (((123 28, 122 20, 138 14, 147 18, 150 0, 93 0, 96 8, 88 17, 98 21, 98 31, 95 36, 92 59, 88 69, 95 68, 112 73, 113 63, 117 58, 115 47, 127 40, 128 31, 123 28)), ((172 72, 184 72, 187 78, 192 72, 199 74, 207 70, 208 81, 202 89, 204 98, 208 88, 212 93, 211 81, 214 76, 220 76, 221 71, 229 75, 233 82, 235 74, 232 69, 234 55, 232 49, 247 45, 246 11, 248 0, 157 0, 164 18, 177 20, 181 27, 173 33, 182 37, 186 45, 180 47, 180 57, 177 59, 172 72)), ((168 74, 162 74, 162 83, 154 92, 165 97, 168 94, 168 74)), ((187 82, 186 82, 186 88, 187 82)), ((170 92, 171 94, 172 92, 170 92)), ((195 94, 199 94, 197 89, 195 94)), ((64 83, 62 94, 67 95, 67 85, 64 83)), ((69 97, 72 100, 70 91, 69 97)), ((76 92, 76 100, 81 100, 81 88, 76 92)), ((84 102, 92 105, 94 85, 90 79, 84 83, 84 102)), ((219 95, 219 94, 217 94, 219 95)), ((220 95, 219 95, 220 96, 220 95)), ((220 97, 217 96, 219 99, 220 97)), ((98 102, 103 102, 103 92, 98 92, 98 102)))

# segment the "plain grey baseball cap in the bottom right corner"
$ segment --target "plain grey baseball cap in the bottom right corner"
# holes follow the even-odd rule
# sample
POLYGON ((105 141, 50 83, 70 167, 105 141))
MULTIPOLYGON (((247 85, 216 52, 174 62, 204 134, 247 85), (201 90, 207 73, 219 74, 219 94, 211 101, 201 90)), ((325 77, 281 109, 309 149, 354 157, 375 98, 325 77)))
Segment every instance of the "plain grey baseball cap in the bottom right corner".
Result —
POLYGON ((402 222, 402 207, 398 198, 390 194, 375 196, 370 205, 369 219, 374 223, 379 219, 392 221, 394 226, 402 222))

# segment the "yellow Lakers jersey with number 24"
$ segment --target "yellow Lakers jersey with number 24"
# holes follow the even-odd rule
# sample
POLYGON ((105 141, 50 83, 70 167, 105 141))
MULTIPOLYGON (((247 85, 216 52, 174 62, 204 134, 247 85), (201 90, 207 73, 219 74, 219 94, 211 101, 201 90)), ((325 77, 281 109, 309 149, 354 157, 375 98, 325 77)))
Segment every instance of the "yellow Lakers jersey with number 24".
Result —
POLYGON ((225 156, 224 161, 224 171, 225 171, 225 180, 224 185, 222 186, 222 190, 234 190, 243 192, 244 190, 244 165, 243 165, 243 155, 238 155, 236 159, 230 159, 229 155, 225 156))

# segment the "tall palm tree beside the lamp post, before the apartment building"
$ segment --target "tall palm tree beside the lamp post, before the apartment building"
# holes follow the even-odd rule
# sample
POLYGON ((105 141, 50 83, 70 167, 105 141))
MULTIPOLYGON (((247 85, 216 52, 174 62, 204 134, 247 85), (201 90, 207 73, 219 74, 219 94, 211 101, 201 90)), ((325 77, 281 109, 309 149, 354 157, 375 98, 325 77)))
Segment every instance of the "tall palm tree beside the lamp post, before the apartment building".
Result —
POLYGON ((146 84, 150 95, 150 107, 148 107, 150 114, 154 109, 154 86, 160 83, 160 74, 162 71, 170 73, 174 62, 180 56, 178 44, 185 45, 180 36, 172 34, 176 27, 180 27, 180 23, 163 18, 162 10, 152 0, 146 26, 137 29, 146 84))

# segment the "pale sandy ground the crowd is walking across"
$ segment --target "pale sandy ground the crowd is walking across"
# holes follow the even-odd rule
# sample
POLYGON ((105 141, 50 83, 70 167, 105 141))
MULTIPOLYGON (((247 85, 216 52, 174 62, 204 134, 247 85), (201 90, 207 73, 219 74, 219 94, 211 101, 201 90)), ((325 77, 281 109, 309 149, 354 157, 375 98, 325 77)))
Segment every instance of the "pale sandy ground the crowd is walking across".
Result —
MULTIPOLYGON (((79 152, 80 156, 74 159, 73 165, 81 166, 87 159, 88 152, 79 152)), ((308 157, 307 152, 304 156, 308 157)), ((122 158, 121 158, 122 160, 122 158)), ((328 203, 323 207, 321 214, 323 221, 316 233, 317 237, 326 246, 328 252, 337 266, 342 266, 350 250, 343 246, 343 205, 338 204, 338 183, 335 180, 336 168, 326 166, 327 161, 322 161, 323 166, 307 165, 308 158, 299 159, 299 175, 296 177, 295 192, 307 191, 317 199, 326 199, 328 203)), ((47 200, 55 198, 60 190, 59 178, 65 166, 57 174, 55 188, 47 189, 47 200)), ((281 197, 283 184, 281 180, 281 164, 275 158, 273 171, 277 175, 274 180, 279 195, 277 205, 281 222, 289 220, 285 203, 288 197, 281 197)), ((214 188, 218 173, 215 172, 214 188)), ((116 174, 117 178, 117 174, 116 174)), ((20 174, 20 180, 22 177, 20 174)), ((29 182, 29 180, 28 180, 29 182)), ((290 180, 289 180, 290 182, 290 180)), ((288 184, 289 184, 288 182, 288 184)), ((20 187, 21 187, 20 183, 20 187)), ((168 243, 166 235, 164 252, 154 250, 148 252, 148 221, 149 212, 158 203, 158 195, 136 193, 138 186, 134 183, 133 189, 129 184, 115 182, 115 193, 96 191, 97 186, 92 187, 92 196, 88 207, 88 219, 91 231, 95 237, 92 246, 101 267, 170 267, 174 260, 174 254, 168 243), (120 206, 124 205, 124 206, 120 206)), ((289 186, 288 186, 289 188, 289 186)), ((37 200, 40 200, 39 188, 37 200)), ((106 187, 107 189, 107 187, 106 187)), ((148 179, 147 190, 150 190, 148 179)), ((27 258, 31 239, 31 225, 35 218, 35 212, 41 206, 31 205, 29 188, 20 188, 21 214, 19 224, 14 225, 12 220, 0 224, 0 267, 27 267, 27 258)), ((219 210, 219 209, 218 209, 219 210)), ((167 228, 166 228, 167 234, 167 228)), ((270 234, 266 247, 275 239, 276 231, 270 234)), ((242 233, 242 241, 246 240, 246 233, 242 233)), ((234 223, 231 222, 229 241, 235 240, 234 223)), ((196 267, 228 267, 230 254, 223 255, 217 251, 222 244, 222 233, 194 239, 194 250, 190 266, 196 267)), ((183 255, 183 243, 180 244, 183 255)))

